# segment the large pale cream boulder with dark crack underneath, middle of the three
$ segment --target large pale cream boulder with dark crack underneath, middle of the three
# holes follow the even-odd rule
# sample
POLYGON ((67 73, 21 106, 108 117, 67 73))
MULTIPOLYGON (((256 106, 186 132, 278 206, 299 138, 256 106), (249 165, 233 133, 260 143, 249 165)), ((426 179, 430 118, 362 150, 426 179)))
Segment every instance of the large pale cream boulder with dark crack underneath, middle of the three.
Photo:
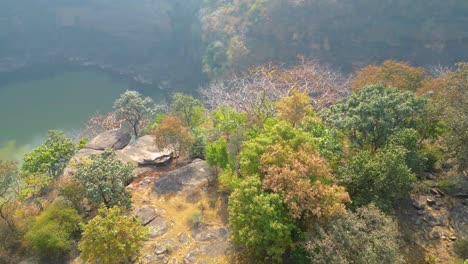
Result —
POLYGON ((138 138, 124 149, 116 151, 121 160, 140 166, 168 164, 172 160, 172 153, 170 149, 158 149, 152 135, 138 138))

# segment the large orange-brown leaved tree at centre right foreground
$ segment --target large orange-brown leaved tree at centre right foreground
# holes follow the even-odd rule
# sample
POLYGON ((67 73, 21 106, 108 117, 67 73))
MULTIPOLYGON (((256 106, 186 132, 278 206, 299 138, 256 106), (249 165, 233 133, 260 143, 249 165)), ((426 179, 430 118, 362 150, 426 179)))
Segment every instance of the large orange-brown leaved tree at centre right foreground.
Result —
POLYGON ((295 219, 317 219, 345 211, 350 202, 346 190, 336 185, 328 163, 310 144, 294 151, 290 146, 269 146, 260 167, 265 173, 263 188, 281 194, 295 219))

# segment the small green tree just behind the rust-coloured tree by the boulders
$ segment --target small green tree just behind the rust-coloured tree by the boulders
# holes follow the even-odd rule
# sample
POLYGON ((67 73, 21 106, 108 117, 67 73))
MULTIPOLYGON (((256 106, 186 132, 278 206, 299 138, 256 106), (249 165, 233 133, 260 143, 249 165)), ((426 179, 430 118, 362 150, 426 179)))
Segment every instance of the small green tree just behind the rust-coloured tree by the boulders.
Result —
POLYGON ((194 129, 203 122, 205 108, 198 99, 190 95, 176 93, 173 97, 171 109, 179 115, 186 126, 194 129))

